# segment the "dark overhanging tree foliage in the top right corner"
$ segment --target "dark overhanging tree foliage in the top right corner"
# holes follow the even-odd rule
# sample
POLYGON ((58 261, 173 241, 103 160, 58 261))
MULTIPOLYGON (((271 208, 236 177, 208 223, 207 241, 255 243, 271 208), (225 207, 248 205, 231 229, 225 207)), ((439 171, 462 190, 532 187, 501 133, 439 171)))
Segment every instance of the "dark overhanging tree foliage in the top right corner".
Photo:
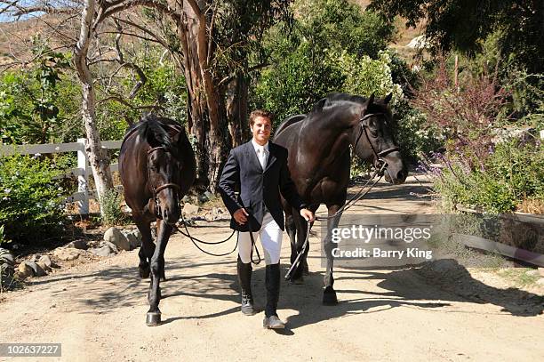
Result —
POLYGON ((500 52, 529 72, 544 70, 544 2, 541 0, 372 0, 369 9, 407 27, 424 24, 435 51, 474 54, 500 33, 500 52))

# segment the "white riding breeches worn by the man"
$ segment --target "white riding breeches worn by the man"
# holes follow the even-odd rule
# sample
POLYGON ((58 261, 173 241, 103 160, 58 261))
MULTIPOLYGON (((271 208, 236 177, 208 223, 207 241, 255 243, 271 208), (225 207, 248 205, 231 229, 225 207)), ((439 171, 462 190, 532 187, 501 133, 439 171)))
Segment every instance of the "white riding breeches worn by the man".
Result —
MULTIPOLYGON (((267 265, 279 262, 282 249, 282 233, 283 230, 280 229, 270 213, 265 213, 260 230, 253 232, 255 242, 260 238, 267 265)), ((238 232, 238 254, 245 264, 252 261, 252 238, 249 232, 238 232)))

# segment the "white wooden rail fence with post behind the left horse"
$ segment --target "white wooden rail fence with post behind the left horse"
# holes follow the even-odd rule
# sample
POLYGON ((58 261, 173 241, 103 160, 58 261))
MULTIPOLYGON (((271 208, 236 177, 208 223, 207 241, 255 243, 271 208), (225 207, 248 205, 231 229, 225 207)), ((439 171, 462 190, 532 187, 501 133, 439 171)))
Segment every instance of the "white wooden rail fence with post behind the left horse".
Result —
MULTIPOLYGON (((80 138, 76 142, 70 143, 50 143, 36 145, 0 145, 0 157, 10 155, 36 155, 49 153, 77 152, 77 168, 69 170, 68 173, 60 177, 77 177, 77 192, 66 199, 66 202, 77 202, 79 213, 89 213, 89 199, 96 198, 96 191, 88 187, 89 176, 92 175, 92 169, 89 166, 89 158, 85 152, 86 139, 80 138)), ((119 149, 122 141, 102 141, 102 149, 119 149)), ((118 170, 117 164, 110 165, 112 172, 118 170)))

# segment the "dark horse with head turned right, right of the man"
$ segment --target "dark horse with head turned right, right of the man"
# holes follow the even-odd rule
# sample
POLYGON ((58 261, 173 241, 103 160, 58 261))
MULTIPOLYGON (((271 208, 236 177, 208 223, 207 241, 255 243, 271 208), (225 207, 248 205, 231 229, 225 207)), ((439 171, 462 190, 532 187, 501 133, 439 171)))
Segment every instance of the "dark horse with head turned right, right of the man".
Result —
MULTIPOLYGON (((361 159, 380 165, 387 163, 386 180, 402 183, 408 174, 400 152, 391 134, 391 111, 388 102, 374 96, 365 99, 345 93, 332 93, 318 101, 308 115, 287 118, 278 127, 275 142, 289 150, 289 170, 292 181, 304 203, 313 212, 320 204, 327 206, 329 216, 334 215, 346 202, 351 155, 349 146, 361 159)), ((286 229, 291 240, 291 262, 302 249, 307 234, 307 223, 291 206, 284 203, 286 229)), ((336 215, 327 221, 324 251, 327 267, 324 275, 324 304, 336 304, 332 277, 331 230, 340 222, 336 215)), ((308 247, 292 276, 300 282, 305 268, 308 247)))

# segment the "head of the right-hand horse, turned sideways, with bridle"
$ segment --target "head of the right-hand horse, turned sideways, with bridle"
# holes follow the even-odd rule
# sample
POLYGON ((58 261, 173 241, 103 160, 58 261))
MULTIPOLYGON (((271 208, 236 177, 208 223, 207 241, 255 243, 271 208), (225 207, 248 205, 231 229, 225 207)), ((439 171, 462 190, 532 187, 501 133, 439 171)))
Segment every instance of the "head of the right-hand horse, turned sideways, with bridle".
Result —
POLYGON ((377 168, 385 165, 386 181, 399 184, 406 180, 408 170, 390 130, 391 111, 388 103, 391 95, 374 101, 372 94, 364 102, 362 112, 356 115, 353 123, 350 141, 358 157, 372 162, 377 168))

